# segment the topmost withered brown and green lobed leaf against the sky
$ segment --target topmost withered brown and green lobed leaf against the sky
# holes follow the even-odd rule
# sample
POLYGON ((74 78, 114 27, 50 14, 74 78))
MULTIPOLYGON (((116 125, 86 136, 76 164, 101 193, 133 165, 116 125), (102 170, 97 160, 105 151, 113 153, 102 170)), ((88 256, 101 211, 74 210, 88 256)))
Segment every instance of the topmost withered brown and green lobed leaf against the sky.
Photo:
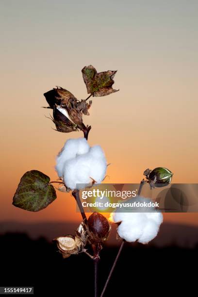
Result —
POLYGON ((82 77, 86 84, 87 93, 93 94, 93 97, 99 97, 119 91, 112 88, 116 72, 108 70, 97 73, 97 70, 92 65, 85 66, 82 69, 82 77))

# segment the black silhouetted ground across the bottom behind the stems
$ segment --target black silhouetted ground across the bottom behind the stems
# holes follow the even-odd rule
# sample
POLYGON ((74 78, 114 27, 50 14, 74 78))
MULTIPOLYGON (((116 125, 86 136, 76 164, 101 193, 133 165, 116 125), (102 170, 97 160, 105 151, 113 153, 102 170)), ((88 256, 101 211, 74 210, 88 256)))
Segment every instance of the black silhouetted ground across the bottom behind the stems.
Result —
MULTIPOLYGON (((104 247, 99 263, 99 292, 117 247, 104 247)), ((188 295, 197 287, 198 246, 154 247, 126 244, 105 296, 188 295)), ((25 233, 0 236, 0 286, 34 286, 34 295, 94 296, 93 263, 85 254, 62 259, 56 245, 25 233)), ((196 291, 194 291, 196 294, 196 291)))

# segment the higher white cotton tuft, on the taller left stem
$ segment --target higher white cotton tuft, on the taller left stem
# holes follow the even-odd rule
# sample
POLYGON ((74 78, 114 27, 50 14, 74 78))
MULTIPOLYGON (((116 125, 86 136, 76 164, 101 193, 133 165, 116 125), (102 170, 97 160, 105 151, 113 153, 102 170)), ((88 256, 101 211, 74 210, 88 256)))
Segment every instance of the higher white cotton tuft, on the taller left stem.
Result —
POLYGON ((89 147, 85 138, 69 139, 56 159, 56 171, 71 190, 93 180, 103 181, 107 162, 100 146, 89 147))

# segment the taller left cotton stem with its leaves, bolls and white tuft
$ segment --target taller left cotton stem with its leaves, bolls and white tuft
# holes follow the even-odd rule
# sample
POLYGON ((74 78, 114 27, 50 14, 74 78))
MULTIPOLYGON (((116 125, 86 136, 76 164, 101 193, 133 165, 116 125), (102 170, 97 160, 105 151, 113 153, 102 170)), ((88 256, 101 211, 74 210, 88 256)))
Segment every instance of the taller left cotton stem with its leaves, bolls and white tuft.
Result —
POLYGON ((79 253, 87 254, 94 260, 95 265, 95 296, 97 296, 97 269, 99 252, 103 243, 108 239, 111 225, 109 221, 97 212, 87 219, 79 196, 80 189, 92 187, 101 183, 106 175, 107 161, 104 151, 99 145, 90 147, 88 134, 90 125, 83 123, 83 116, 89 115, 92 106, 90 97, 107 96, 117 92, 113 89, 116 71, 108 70, 97 72, 93 66, 82 69, 82 78, 85 82, 86 99, 77 99, 63 87, 55 88, 44 93, 48 103, 47 109, 52 111, 50 119, 55 124, 54 130, 62 133, 83 132, 83 137, 67 139, 64 147, 56 157, 55 170, 57 181, 50 181, 49 176, 38 170, 26 172, 16 189, 13 205, 21 209, 37 212, 46 208, 56 198, 56 190, 70 192, 76 199, 82 222, 74 234, 56 237, 59 252, 63 258, 79 253), (53 185, 58 184, 58 188, 53 185))

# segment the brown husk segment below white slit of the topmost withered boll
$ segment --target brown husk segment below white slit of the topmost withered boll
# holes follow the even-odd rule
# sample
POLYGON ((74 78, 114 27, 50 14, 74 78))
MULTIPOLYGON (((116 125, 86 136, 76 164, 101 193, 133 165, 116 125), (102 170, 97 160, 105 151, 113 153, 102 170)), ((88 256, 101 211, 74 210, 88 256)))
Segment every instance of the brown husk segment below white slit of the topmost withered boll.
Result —
POLYGON ((64 114, 62 114, 55 106, 53 109, 53 118, 57 131, 59 132, 72 132, 78 131, 76 124, 72 123, 64 114))

